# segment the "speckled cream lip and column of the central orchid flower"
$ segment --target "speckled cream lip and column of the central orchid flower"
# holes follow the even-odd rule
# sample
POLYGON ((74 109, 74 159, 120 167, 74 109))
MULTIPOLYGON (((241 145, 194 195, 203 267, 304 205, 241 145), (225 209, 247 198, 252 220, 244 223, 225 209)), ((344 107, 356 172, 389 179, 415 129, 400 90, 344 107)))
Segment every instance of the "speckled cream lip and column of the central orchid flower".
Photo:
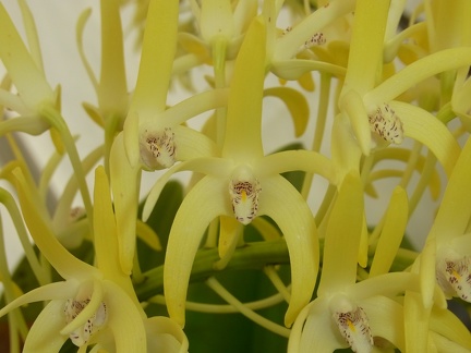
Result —
POLYGON ((242 170, 229 183, 232 211, 242 224, 249 224, 258 212, 259 182, 250 171, 242 170))

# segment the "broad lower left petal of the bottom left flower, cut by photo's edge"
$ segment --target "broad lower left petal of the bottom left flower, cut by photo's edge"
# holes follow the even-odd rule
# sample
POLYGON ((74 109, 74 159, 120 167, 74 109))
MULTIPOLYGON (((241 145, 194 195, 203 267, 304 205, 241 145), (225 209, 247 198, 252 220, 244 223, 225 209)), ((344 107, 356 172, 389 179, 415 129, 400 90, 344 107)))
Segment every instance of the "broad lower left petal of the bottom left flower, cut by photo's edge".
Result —
POLYGON ((51 353, 59 352, 68 336, 59 334, 65 325, 63 315, 64 301, 51 301, 40 312, 26 337, 23 352, 51 353))

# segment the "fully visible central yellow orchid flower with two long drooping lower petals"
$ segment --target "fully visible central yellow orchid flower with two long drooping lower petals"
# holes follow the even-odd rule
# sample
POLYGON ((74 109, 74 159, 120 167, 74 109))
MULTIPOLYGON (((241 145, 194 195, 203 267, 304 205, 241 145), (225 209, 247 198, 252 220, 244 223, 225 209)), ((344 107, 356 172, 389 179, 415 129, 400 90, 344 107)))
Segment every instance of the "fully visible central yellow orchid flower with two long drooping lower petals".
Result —
MULTIPOLYGON (((336 184, 336 169, 328 159, 310 151, 264 156, 261 117, 265 47, 264 22, 256 19, 247 31, 234 66, 222 157, 195 158, 170 169, 158 180, 144 206, 143 218, 146 219, 173 172, 186 169, 207 174, 185 196, 167 246, 164 270, 167 307, 170 317, 181 325, 184 324, 184 300, 193 258, 206 227, 218 216, 247 224, 255 217, 267 215, 280 227, 288 242, 292 267, 292 297, 286 325, 292 324, 314 289, 318 267, 316 227, 306 203, 279 173, 307 170, 336 184)), ((221 258, 230 256, 238 243, 238 234, 235 231, 228 235, 229 239, 219 239, 221 258)))

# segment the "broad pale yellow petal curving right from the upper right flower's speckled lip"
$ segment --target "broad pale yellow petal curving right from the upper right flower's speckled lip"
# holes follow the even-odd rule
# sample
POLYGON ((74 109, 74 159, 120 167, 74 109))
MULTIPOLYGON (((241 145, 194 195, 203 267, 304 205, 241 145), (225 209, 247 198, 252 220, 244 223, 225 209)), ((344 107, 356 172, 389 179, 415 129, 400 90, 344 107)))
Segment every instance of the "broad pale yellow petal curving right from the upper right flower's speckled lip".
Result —
POLYGON ((460 147, 448 129, 430 112, 419 107, 397 100, 390 101, 389 106, 402 121, 404 136, 427 146, 450 176, 460 147))

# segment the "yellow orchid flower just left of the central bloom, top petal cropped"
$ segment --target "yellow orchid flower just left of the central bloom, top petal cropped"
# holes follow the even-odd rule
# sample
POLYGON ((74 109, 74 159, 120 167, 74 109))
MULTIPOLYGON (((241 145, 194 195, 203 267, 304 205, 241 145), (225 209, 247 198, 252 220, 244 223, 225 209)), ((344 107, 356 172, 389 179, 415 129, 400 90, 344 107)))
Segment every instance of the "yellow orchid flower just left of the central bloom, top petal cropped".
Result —
POLYGON ((123 132, 111 146, 110 174, 123 270, 131 273, 135 251, 142 170, 173 166, 179 160, 218 154, 216 144, 182 123, 227 101, 226 90, 195 95, 166 109, 176 52, 178 1, 149 3, 137 83, 123 132), (126 158, 123 158, 125 156, 126 158))

